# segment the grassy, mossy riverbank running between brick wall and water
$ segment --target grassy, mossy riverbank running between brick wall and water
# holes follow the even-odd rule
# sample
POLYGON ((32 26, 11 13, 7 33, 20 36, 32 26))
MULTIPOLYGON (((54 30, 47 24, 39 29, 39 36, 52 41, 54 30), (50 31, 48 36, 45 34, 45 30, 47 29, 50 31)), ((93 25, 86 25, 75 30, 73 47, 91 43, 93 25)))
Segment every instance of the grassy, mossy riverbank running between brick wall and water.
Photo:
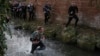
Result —
POLYGON ((37 26, 42 25, 45 27, 45 35, 49 39, 58 40, 63 43, 76 45, 79 48, 86 50, 100 49, 100 30, 90 28, 87 26, 78 26, 76 29, 69 26, 64 29, 61 24, 48 24, 44 25, 42 21, 24 21, 13 20, 15 25, 26 31, 32 33, 37 26))

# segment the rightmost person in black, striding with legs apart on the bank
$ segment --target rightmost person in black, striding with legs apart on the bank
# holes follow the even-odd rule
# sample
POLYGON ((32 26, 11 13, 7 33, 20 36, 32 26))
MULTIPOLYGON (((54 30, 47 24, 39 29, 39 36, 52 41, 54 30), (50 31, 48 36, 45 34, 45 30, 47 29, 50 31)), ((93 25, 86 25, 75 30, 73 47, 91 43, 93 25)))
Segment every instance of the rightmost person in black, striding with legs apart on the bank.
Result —
POLYGON ((75 27, 77 26, 77 23, 78 23, 78 20, 79 20, 77 13, 78 13, 78 7, 76 6, 75 2, 72 2, 71 6, 69 7, 69 10, 68 10, 69 20, 68 20, 68 23, 66 24, 66 27, 70 24, 72 19, 76 20, 75 21, 75 27))

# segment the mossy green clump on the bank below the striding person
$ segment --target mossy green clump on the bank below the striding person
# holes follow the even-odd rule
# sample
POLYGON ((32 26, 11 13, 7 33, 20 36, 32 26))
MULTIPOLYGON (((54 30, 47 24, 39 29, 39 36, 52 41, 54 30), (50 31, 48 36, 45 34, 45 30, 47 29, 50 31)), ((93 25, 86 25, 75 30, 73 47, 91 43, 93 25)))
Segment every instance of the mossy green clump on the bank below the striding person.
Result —
POLYGON ((76 31, 73 27, 68 27, 62 32, 62 41, 65 43, 76 42, 76 31))

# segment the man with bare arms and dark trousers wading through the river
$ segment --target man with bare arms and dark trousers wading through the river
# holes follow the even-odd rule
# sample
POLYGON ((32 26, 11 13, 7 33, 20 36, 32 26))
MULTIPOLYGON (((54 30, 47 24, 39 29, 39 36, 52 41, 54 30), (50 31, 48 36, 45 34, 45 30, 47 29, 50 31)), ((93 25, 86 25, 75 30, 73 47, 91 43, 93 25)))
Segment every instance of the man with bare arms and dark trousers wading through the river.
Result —
POLYGON ((34 51, 37 49, 38 46, 40 46, 38 50, 45 49, 45 45, 42 42, 42 40, 45 39, 43 32, 44 32, 44 28, 42 26, 38 26, 36 31, 32 33, 31 38, 30 38, 30 41, 32 42, 32 48, 31 48, 32 54, 34 53, 34 51))

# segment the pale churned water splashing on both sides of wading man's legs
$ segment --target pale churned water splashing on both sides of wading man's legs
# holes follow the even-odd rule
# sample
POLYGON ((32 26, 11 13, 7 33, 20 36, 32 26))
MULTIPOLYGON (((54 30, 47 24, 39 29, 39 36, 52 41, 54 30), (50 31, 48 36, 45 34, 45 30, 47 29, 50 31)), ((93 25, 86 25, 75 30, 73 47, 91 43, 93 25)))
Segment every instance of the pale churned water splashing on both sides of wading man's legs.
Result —
MULTIPOLYGON (((25 36, 25 33, 22 30, 14 30, 13 25, 9 25, 9 28, 12 32, 12 38, 10 35, 5 32, 6 35, 6 42, 8 49, 6 51, 5 56, 30 56, 30 50, 32 43, 30 42, 30 37, 25 36)), ((46 41, 46 44, 49 42, 46 41)), ((50 48, 49 46, 46 47, 46 50, 35 51, 34 56, 64 56, 61 53, 55 51, 54 49, 50 48)))

